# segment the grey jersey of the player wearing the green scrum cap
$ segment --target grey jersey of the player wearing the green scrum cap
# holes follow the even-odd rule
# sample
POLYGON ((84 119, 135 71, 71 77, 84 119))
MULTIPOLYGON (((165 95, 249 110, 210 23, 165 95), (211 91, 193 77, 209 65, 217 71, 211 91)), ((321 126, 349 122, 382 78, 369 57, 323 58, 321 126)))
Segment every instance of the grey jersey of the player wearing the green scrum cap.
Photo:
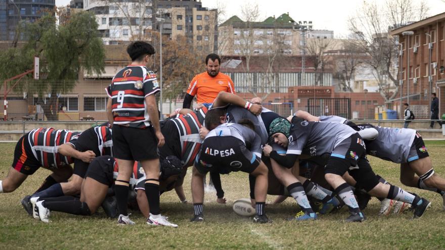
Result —
POLYGON ((308 122, 292 118, 292 128, 286 154, 321 156, 330 154, 344 139, 357 133, 341 123, 308 122))

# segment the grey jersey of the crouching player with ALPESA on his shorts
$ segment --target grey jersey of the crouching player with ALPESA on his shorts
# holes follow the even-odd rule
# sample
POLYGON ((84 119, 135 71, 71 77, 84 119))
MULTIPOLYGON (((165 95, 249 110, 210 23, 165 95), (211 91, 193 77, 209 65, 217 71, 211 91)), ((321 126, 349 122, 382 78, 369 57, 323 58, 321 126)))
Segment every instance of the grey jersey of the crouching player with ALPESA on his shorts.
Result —
MULTIPOLYGON (((261 158, 261 138, 250 128, 237 123, 224 123, 210 131, 205 139, 214 136, 233 136, 250 145, 250 151, 261 158)), ((204 139, 204 140, 205 140, 204 139)))

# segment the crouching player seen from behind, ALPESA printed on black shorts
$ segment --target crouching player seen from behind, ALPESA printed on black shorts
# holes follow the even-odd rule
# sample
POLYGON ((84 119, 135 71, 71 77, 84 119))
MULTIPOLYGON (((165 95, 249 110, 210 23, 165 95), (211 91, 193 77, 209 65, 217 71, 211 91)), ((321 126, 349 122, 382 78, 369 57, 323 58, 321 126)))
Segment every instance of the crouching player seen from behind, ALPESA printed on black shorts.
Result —
POLYGON ((205 137, 192 173, 194 207, 192 222, 204 221, 202 205, 205 174, 207 172, 228 174, 232 171, 243 171, 256 176, 256 215, 253 221, 257 223, 269 221, 264 213, 268 168, 261 162, 261 139, 253 129, 250 120, 240 120, 239 124, 221 124, 205 137))

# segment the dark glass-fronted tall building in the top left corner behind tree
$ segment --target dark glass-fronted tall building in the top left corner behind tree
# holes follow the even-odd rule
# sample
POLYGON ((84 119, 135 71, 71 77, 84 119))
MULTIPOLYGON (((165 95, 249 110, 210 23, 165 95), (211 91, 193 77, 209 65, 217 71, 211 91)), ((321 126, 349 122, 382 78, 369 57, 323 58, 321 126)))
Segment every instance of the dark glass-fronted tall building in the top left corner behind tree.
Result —
POLYGON ((0 0, 0 40, 14 40, 20 21, 35 22, 54 7, 55 0, 0 0))

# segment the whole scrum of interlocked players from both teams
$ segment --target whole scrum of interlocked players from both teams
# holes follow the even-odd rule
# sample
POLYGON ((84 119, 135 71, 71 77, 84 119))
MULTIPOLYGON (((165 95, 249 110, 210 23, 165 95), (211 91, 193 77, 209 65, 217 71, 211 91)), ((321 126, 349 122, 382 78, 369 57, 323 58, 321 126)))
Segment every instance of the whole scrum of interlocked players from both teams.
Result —
MULTIPOLYGON (((371 196, 380 199, 381 214, 411 209, 415 218, 422 217, 431 203, 378 176, 367 155, 399 163, 404 185, 437 192, 445 200, 445 179, 434 172, 422 137, 413 129, 354 124, 302 111, 284 118, 226 92, 208 109, 175 113, 161 122, 165 143, 159 148, 160 194, 174 189, 187 203, 183 181, 192 167, 192 222, 205 218, 205 175, 210 173, 217 201, 225 203, 219 176, 234 171, 248 173, 245 181, 250 184, 255 223, 269 222, 268 194, 278 195, 274 204, 289 196, 295 199, 298 213, 291 220, 315 220, 345 206, 349 210, 345 220, 361 222, 371 196)), ((14 191, 42 167, 51 175, 21 201, 34 218, 49 222, 54 211, 88 216, 99 207, 110 217, 119 216, 113 188, 119 166, 113 158, 111 133, 106 124, 81 133, 53 128, 30 131, 16 145, 0 192, 14 191)), ((147 218, 146 179, 136 163, 127 205, 147 218)))

